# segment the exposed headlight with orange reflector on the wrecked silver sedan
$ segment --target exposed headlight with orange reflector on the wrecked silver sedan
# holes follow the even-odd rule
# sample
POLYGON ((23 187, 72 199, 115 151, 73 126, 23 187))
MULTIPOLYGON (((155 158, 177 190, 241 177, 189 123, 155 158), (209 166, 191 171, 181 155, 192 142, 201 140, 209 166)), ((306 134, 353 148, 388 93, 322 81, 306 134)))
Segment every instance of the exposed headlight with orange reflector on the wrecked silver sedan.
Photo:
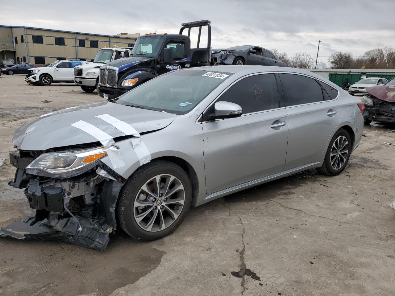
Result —
POLYGON ((92 169, 105 155, 107 152, 103 147, 44 153, 26 167, 26 172, 38 176, 69 178, 92 169))

